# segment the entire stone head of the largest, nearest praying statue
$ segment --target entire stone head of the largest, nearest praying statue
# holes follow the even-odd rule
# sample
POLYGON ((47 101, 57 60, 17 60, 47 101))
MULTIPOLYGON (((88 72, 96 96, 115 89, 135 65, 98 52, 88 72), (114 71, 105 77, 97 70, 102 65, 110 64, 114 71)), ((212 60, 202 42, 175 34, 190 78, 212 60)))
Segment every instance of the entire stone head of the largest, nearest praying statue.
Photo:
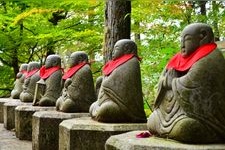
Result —
POLYGON ((181 54, 188 56, 200 46, 214 42, 212 28, 205 23, 193 23, 181 33, 181 54))

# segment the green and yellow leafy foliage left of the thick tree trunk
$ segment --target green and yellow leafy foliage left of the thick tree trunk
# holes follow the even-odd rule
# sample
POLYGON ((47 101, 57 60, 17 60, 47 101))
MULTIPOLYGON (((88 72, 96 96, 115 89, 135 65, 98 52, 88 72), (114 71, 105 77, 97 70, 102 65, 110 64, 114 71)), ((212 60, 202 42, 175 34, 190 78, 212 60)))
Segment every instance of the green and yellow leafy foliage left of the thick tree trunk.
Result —
MULTIPOLYGON (((15 77, 21 63, 35 60, 43 64, 52 53, 62 55, 66 61, 73 51, 84 50, 93 59, 102 47, 101 8, 102 2, 2 2, 0 61, 3 66, 8 66, 4 67, 8 69, 5 72, 15 77)), ((7 88, 12 89, 13 78, 10 81, 7 88)))

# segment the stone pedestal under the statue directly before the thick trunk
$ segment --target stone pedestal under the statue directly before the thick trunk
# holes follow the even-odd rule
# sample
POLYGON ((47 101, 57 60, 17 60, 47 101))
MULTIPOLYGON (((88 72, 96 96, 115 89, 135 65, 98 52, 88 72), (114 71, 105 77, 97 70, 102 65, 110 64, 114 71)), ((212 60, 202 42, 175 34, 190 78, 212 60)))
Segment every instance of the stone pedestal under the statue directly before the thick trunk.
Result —
POLYGON ((146 123, 100 123, 90 117, 69 119, 59 125, 59 149, 104 150, 111 135, 146 129, 146 123))

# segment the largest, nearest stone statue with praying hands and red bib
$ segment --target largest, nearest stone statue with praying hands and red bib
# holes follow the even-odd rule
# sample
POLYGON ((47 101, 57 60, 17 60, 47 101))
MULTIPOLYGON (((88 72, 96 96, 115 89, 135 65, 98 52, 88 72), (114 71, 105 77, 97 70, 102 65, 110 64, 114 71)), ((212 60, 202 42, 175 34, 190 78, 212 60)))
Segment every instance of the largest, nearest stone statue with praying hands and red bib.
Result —
POLYGON ((158 84, 148 129, 185 143, 225 143, 225 60, 212 28, 193 23, 158 84))

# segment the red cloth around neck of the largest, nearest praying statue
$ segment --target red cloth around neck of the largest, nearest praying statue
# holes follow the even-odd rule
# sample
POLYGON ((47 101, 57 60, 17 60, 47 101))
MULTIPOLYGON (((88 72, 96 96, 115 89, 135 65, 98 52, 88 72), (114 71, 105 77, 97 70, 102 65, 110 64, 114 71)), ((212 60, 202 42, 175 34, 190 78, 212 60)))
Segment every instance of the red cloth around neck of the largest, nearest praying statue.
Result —
POLYGON ((183 57, 179 52, 172 57, 166 68, 173 68, 177 71, 187 71, 195 62, 211 53, 213 50, 216 49, 216 47, 217 45, 215 43, 205 44, 199 47, 196 51, 194 51, 191 55, 187 57, 183 57))

